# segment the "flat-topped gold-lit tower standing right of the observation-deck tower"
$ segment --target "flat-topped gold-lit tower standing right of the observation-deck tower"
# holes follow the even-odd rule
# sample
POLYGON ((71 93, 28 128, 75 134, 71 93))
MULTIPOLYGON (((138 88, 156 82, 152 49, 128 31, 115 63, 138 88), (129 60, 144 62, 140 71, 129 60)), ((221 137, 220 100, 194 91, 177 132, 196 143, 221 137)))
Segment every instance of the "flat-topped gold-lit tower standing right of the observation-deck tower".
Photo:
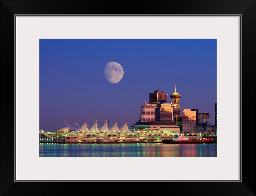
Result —
POLYGON ((195 126, 198 126, 198 110, 184 109, 182 111, 182 133, 195 134, 195 126))

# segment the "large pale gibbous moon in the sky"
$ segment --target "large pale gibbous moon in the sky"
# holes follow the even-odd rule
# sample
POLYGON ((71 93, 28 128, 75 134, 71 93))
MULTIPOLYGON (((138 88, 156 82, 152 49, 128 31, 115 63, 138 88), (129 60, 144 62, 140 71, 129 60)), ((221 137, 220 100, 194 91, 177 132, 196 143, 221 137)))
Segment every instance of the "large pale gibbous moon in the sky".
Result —
POLYGON ((106 80, 112 84, 118 83, 124 76, 122 66, 117 62, 108 62, 104 68, 104 75, 106 80))

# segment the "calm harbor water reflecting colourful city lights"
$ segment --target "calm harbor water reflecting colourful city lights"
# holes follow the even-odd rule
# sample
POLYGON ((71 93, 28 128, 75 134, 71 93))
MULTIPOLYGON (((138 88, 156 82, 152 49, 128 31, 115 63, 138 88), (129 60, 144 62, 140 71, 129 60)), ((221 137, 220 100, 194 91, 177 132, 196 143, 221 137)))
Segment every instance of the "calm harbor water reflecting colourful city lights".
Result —
POLYGON ((217 144, 39 144, 40 157, 216 157, 217 144))

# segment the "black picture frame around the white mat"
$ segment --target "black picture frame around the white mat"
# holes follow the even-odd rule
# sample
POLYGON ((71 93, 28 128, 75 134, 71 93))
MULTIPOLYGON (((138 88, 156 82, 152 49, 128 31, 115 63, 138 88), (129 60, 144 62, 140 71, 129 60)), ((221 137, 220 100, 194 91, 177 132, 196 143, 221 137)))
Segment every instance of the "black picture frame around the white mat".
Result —
MULTIPOLYGON (((1 195, 255 195, 255 0, 252 1, 2 1, 1 195), (125 8, 125 10, 123 9, 125 8), (238 181, 23 181, 15 180, 15 16, 239 15, 240 180, 238 181), (247 90, 249 87, 249 90, 247 90), (246 89, 246 90, 244 90, 246 89), (250 90, 252 89, 252 90, 250 90), (242 93, 243 92, 243 93, 242 93), (242 107, 242 105, 245 105, 242 107), (248 107, 250 105, 250 107, 248 107), (242 121, 243 120, 243 121, 242 121), (13 125, 13 126, 10 126, 13 125), (248 132, 251 134, 248 135, 248 132), (249 155, 248 155, 249 153, 249 155), (143 186, 142 186, 143 183, 143 186), (122 191, 118 187, 122 187, 122 191), (145 187, 146 186, 146 187, 145 187), (44 187, 44 189, 42 189, 44 187), (66 187, 70 187, 66 188, 66 187), (74 188, 71 188, 74 187, 74 188), (93 189, 91 189, 93 187, 93 189), (90 190, 90 191, 89 191, 90 190), (93 192, 91 192, 93 190, 93 192), (143 190, 143 191, 140 191, 143 190), (143 193, 142 193, 143 192, 143 193)), ((210 163, 209 163, 210 164, 210 163)))

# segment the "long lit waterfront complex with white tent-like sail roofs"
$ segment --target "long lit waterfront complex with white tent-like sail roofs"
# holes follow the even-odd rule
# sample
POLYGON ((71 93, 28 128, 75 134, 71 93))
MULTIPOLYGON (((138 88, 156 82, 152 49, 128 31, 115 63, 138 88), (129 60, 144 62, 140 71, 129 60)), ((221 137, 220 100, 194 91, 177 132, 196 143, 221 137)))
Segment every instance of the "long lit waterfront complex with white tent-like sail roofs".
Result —
MULTIPOLYGON (((128 129, 127 120, 120 126, 117 121, 108 125, 107 121, 98 126, 97 121, 88 125, 86 121, 79 126, 70 126, 66 121, 57 133, 39 132, 40 143, 102 143, 102 142, 161 142, 179 134, 179 126, 173 121, 137 122, 128 129), (96 127, 97 126, 97 127, 96 127)), ((202 139, 202 136, 189 136, 190 139, 202 139)))

